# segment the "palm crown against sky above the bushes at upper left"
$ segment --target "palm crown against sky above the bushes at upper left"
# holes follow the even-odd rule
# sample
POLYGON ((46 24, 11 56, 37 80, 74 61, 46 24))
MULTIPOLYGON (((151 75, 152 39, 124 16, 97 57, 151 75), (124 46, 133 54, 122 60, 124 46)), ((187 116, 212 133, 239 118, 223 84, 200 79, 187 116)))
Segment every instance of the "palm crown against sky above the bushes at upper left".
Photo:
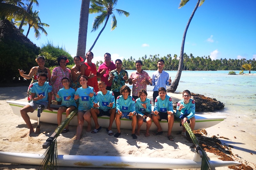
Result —
POLYGON ((32 7, 33 7, 33 6, 31 6, 31 8, 30 8, 30 10, 29 10, 29 13, 31 14, 31 16, 32 16, 33 18, 36 19, 37 22, 36 22, 36 23, 33 23, 33 24, 28 24, 28 32, 27 32, 26 37, 28 37, 28 33, 29 33, 29 31, 30 31, 30 28, 33 27, 34 30, 35 30, 35 37, 36 37, 36 39, 38 40, 38 39, 41 37, 40 31, 42 31, 46 36, 48 35, 47 32, 45 31, 45 29, 44 29, 43 27, 49 27, 49 25, 41 22, 41 19, 40 19, 39 16, 38 16, 39 11, 36 11, 36 10, 35 10, 35 11, 33 12, 33 11, 32 11, 32 7))

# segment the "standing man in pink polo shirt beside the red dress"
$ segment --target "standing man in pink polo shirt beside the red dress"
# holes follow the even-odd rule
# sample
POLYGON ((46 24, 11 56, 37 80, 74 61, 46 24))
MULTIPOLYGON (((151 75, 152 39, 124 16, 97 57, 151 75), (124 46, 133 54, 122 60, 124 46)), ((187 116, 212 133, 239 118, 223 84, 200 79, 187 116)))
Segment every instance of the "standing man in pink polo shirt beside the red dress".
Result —
POLYGON ((101 81, 105 82, 105 84, 107 85, 107 90, 111 90, 112 84, 108 82, 108 77, 110 71, 116 69, 116 65, 111 61, 111 55, 108 52, 104 54, 104 60, 105 62, 99 66, 98 72, 100 73, 102 70, 105 70, 105 72, 98 75, 98 77, 100 77, 101 81))

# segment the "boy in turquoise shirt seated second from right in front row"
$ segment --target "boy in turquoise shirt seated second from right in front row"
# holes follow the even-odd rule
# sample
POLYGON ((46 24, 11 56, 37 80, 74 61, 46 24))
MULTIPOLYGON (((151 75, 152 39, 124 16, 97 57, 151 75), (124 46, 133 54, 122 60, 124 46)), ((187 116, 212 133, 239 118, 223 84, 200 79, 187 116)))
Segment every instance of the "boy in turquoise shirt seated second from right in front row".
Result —
POLYGON ((168 122, 167 137, 170 141, 174 141, 173 136, 171 135, 174 123, 172 98, 166 95, 166 90, 163 87, 158 89, 158 94, 159 96, 156 97, 154 105, 154 116, 152 115, 157 131, 153 135, 161 135, 163 133, 159 120, 166 119, 168 122))

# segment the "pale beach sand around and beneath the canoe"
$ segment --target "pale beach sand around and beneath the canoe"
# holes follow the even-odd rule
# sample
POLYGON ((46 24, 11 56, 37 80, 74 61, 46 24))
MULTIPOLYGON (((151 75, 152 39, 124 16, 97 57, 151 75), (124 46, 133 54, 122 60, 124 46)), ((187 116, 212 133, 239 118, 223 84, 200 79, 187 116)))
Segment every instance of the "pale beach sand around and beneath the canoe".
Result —
MULTIPOLYGON (((43 154, 43 143, 52 135, 57 125, 40 122, 41 133, 28 135, 28 128, 22 117, 14 115, 7 100, 27 101, 27 86, 0 88, 0 151, 19 153, 43 154)), ((148 92, 152 100, 153 92, 148 92)), ((179 101, 182 97, 178 93, 168 93, 173 102, 179 101)), ((214 114, 207 112, 205 114, 214 114)), ((239 120, 238 120, 239 121, 239 120)), ((31 120, 34 128, 37 121, 31 120)), ((248 122, 244 122, 247 124, 248 122)), ((250 126, 250 125, 248 125, 250 126)), ((189 138, 185 138, 173 132, 174 142, 168 141, 167 132, 163 135, 145 137, 145 131, 140 131, 138 139, 134 140, 131 130, 121 129, 121 136, 115 138, 108 136, 105 129, 97 134, 85 132, 83 129, 82 139, 75 141, 76 127, 70 126, 70 131, 58 137, 58 154, 62 155, 103 155, 103 156, 131 156, 131 157, 158 157, 158 158, 180 158, 193 159, 195 153, 194 145, 189 138)), ((116 133, 116 129, 112 129, 116 133)), ((247 135, 243 129, 230 122, 228 118, 214 127, 196 131, 200 144, 206 150, 210 160, 227 160, 243 163, 243 169, 256 169, 256 136, 247 135), (204 134, 203 134, 204 133, 204 134), (207 133, 207 135, 206 135, 207 133), (215 135, 217 139, 212 138, 215 135), (215 139, 217 142, 212 141, 215 139), (221 144, 218 144, 218 140, 221 144), (217 143, 217 144, 216 144, 217 143), (211 147, 212 146, 212 147, 211 147), (211 153, 213 152, 213 153, 211 153), (221 155, 221 156, 220 156, 221 155), (219 159, 220 158, 220 159, 219 159)), ((0 169, 39 169, 40 166, 12 165, 0 163, 0 169)), ((83 168, 61 167, 60 169, 78 170, 83 168)), ((85 168, 84 168, 85 169, 85 168)), ((86 168, 99 169, 99 168, 86 168)), ((213 168, 214 169, 214 168, 213 168)), ((216 170, 229 169, 228 167, 215 168, 216 170)), ((234 169, 241 169, 239 166, 234 169)))

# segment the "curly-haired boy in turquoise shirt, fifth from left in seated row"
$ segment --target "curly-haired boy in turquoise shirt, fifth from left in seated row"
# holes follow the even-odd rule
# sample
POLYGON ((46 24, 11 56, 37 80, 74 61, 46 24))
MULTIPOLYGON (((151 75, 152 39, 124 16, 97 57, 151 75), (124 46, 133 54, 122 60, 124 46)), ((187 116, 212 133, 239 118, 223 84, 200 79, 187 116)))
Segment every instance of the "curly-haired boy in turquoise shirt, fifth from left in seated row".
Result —
POLYGON ((117 133, 114 135, 118 137, 121 135, 121 118, 132 120, 132 138, 137 139, 135 135, 135 128, 137 123, 136 112, 135 112, 135 100, 131 95, 131 89, 124 85, 120 88, 121 96, 116 98, 116 128, 117 133))

